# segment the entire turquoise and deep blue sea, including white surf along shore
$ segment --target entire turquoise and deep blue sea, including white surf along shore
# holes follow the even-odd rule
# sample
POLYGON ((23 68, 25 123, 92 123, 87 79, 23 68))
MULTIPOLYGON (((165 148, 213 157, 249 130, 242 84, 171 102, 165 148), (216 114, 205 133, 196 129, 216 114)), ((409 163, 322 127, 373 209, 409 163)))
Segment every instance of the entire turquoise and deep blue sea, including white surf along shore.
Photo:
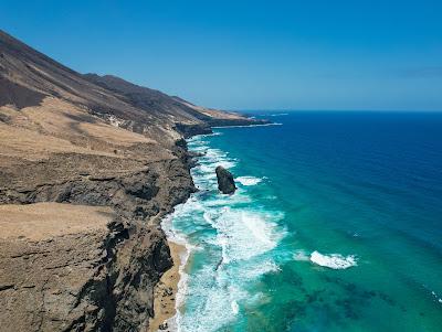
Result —
POLYGON ((179 330, 442 331, 442 115, 271 119, 189 140, 179 330))

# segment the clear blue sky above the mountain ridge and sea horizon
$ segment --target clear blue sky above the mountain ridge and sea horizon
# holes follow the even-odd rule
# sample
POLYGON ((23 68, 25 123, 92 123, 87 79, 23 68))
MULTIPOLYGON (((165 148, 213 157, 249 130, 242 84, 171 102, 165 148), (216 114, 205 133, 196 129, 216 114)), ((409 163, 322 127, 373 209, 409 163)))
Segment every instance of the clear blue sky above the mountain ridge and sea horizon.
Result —
POLYGON ((0 29, 208 107, 442 110, 441 0, 1 0, 0 29))

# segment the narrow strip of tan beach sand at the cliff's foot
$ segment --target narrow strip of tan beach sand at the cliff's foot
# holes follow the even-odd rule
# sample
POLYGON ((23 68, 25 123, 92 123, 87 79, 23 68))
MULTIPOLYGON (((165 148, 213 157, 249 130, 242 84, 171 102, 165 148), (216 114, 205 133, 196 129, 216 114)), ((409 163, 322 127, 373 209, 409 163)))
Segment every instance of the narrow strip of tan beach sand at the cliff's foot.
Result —
POLYGON ((180 256, 186 251, 186 247, 169 240, 170 255, 173 259, 173 266, 166 271, 155 288, 155 317, 149 320, 148 332, 168 330, 166 325, 159 329, 168 319, 176 313, 176 296, 178 291, 178 281, 180 279, 179 267, 181 265, 180 256))

